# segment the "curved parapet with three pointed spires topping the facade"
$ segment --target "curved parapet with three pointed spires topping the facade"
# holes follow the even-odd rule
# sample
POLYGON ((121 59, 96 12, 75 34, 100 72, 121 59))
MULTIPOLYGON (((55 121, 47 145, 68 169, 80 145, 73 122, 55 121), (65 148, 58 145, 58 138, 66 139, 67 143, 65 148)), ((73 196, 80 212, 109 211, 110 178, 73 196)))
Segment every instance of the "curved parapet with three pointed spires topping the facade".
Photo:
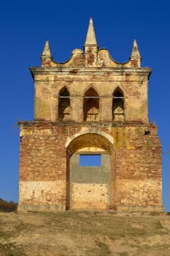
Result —
POLYGON ((49 42, 45 42, 45 48, 42 52, 41 60, 42 67, 140 67, 141 59, 136 39, 134 39, 134 45, 131 51, 129 60, 125 63, 119 63, 112 59, 109 55, 109 51, 105 48, 98 50, 98 44, 96 41, 96 34, 93 28, 93 20, 90 18, 88 32, 85 39, 84 51, 81 49, 72 50, 72 56, 67 61, 59 63, 53 60, 53 56, 50 53, 49 42))

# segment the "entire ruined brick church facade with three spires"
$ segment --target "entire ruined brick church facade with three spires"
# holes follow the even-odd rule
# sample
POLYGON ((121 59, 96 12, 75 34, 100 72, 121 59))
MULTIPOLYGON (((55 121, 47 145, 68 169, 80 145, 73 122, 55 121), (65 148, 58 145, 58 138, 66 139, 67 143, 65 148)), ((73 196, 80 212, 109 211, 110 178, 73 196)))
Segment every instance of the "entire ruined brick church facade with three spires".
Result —
MULTIPOLYGON (((98 48, 58 63, 49 42, 34 79, 34 121, 20 121, 18 211, 163 211, 161 143, 148 121, 151 69, 134 40, 126 63, 98 48), (96 166, 83 157, 98 157, 96 166)), ((87 159, 87 158, 85 158, 87 159)))

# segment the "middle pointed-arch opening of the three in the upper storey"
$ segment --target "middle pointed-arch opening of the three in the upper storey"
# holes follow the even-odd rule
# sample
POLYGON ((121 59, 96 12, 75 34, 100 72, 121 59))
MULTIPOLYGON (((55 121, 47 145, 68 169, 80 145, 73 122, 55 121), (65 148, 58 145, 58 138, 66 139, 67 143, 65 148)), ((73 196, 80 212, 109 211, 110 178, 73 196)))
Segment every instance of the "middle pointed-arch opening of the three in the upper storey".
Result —
POLYGON ((83 113, 84 121, 99 121, 99 97, 93 88, 85 92, 83 113))

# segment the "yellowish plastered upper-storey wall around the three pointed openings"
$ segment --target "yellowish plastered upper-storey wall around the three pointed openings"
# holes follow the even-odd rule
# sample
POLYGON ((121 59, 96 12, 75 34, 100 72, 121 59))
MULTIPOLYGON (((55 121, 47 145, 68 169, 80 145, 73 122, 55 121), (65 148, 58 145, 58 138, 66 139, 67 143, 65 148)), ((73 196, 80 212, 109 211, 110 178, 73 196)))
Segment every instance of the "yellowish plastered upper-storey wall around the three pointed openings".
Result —
MULTIPOLYGON (((31 70, 36 74, 36 69, 31 70)), ((40 70, 42 72, 44 69, 40 70)), ((95 89, 99 96, 100 121, 112 121, 112 95, 117 88, 124 94, 125 121, 148 121, 148 69, 120 69, 119 72, 100 69, 99 72, 88 70, 88 74, 85 69, 74 70, 73 74, 72 69, 62 72, 57 69, 55 72, 58 72, 58 75, 53 75, 52 70, 47 70, 45 75, 39 75, 37 70, 38 74, 34 77, 35 120, 58 120, 59 92, 66 87, 70 93, 72 121, 83 121, 83 97, 85 91, 90 88, 95 89)))

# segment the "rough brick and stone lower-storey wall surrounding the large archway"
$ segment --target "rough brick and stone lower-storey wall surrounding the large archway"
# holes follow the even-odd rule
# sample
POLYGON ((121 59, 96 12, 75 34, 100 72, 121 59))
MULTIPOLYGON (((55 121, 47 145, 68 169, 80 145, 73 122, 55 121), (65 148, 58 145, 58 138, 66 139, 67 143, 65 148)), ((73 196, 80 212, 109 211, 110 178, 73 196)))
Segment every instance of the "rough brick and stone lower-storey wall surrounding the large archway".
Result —
POLYGON ((91 134, 90 124, 84 124, 84 127, 82 125, 43 122, 21 124, 20 208, 23 205, 55 205, 66 208, 71 200, 70 164, 66 159, 85 146, 98 146, 107 150, 111 156, 111 175, 109 183, 107 182, 111 186, 110 191, 104 181, 99 182, 98 178, 96 185, 92 186, 93 189, 92 181, 84 181, 84 185, 81 186, 79 182, 75 182, 72 187, 74 207, 88 208, 89 190, 93 191, 93 197, 89 199, 89 208, 106 207, 106 195, 109 194, 108 208, 137 205, 157 206, 157 210, 160 210, 161 144, 156 135, 157 127, 146 127, 142 124, 132 126, 129 123, 124 124, 124 127, 110 126, 106 129, 103 123, 98 124, 101 125, 98 127, 101 136, 97 133, 91 134), (77 137, 74 138, 74 135, 77 137), (112 138, 112 143, 104 137, 105 135, 112 138), (105 197, 100 203, 102 206, 99 207, 98 200, 95 203, 95 198, 98 197, 98 189, 101 187, 105 197), (82 197, 84 195, 83 200, 82 197, 80 200, 80 194, 82 197))

